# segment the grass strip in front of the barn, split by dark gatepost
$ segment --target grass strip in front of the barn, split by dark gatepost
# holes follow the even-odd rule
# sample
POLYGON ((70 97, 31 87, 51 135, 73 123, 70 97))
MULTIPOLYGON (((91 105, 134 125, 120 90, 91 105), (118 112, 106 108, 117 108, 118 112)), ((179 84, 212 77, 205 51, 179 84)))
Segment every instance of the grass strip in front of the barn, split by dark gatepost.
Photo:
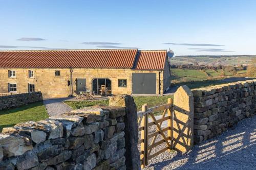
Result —
MULTIPOLYGON (((167 103, 168 98, 173 98, 172 95, 166 95, 166 96, 134 96, 134 101, 137 106, 137 110, 141 111, 141 106, 143 104, 147 104, 147 107, 154 107, 158 105, 162 105, 167 103)), ((80 109, 83 107, 88 107, 88 106, 94 106, 94 105, 101 105, 101 106, 108 106, 109 105, 109 100, 95 100, 95 101, 68 101, 65 102, 68 104, 72 109, 80 109)))

